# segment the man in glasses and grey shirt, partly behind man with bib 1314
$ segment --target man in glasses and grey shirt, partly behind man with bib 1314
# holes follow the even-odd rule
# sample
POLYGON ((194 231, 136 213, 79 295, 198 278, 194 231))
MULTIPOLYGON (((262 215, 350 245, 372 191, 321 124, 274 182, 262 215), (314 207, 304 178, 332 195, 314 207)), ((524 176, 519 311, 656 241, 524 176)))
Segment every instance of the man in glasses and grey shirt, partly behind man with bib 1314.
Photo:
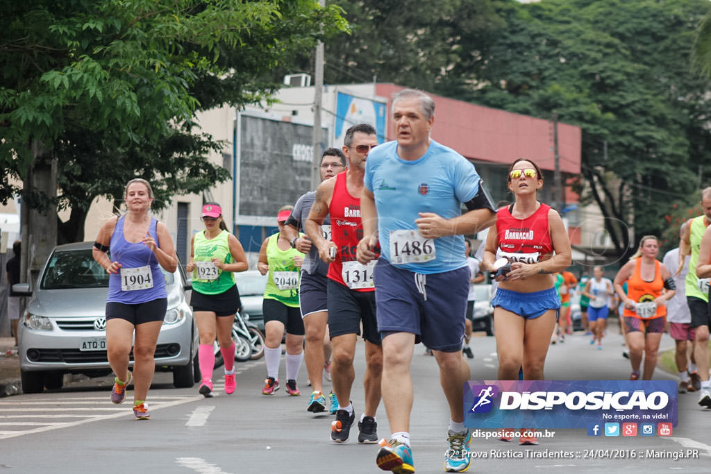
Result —
MULTIPOLYGON (((346 156, 341 150, 329 148, 321 156, 321 181, 333 178, 338 173, 346 169, 346 156)), ((301 283, 299 286, 299 302, 301 306, 301 318, 304 320, 306 330, 306 345, 304 347, 304 359, 306 361, 306 372, 309 372, 309 381, 314 392, 311 393, 309 404, 306 410, 312 413, 326 411, 326 396, 324 396, 325 372, 330 380, 331 341, 324 340, 328 323, 328 311, 326 308, 326 274, 328 264, 319 259, 319 250, 311 245, 311 240, 304 236, 299 237, 299 229, 306 225, 306 218, 309 217, 311 206, 314 205, 316 191, 309 191, 296 201, 292 215, 287 219, 284 226, 284 234, 289 238, 292 248, 306 254, 304 264, 301 265, 301 283)), ((304 232, 306 229, 304 228, 304 232)), ((321 226, 324 238, 331 239, 331 220, 326 217, 324 225, 321 226)), ((331 403, 331 414, 335 414, 338 409, 338 400, 331 391, 328 394, 331 403)))

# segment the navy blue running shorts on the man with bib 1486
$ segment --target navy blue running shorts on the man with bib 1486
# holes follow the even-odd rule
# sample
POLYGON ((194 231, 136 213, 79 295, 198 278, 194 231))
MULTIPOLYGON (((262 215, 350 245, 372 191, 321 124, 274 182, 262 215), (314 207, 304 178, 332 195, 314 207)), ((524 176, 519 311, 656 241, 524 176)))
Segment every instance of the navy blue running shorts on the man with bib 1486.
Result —
POLYGON ((412 333, 430 349, 461 350, 469 296, 468 266, 424 275, 380 257, 373 281, 383 338, 388 333, 412 333))

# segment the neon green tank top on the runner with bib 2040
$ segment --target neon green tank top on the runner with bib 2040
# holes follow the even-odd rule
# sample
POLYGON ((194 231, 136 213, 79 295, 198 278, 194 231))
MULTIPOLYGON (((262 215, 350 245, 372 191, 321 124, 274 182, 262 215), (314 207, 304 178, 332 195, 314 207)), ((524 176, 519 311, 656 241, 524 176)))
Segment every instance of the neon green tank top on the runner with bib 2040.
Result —
MULTIPOLYGON (((303 234, 299 234, 301 237, 303 234)), ((274 299, 292 308, 299 307, 299 281, 301 271, 294 265, 294 257, 304 257, 296 249, 282 250, 277 246, 279 232, 269 236, 267 242, 267 264, 269 274, 264 298, 274 299)))

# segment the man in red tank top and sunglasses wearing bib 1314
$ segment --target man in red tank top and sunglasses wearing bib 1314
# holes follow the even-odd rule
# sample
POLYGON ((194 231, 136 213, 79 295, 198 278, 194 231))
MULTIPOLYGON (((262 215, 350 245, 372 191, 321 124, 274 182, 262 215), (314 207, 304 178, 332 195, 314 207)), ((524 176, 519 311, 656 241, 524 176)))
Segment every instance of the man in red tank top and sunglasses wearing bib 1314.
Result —
POLYGON ((360 193, 363 191, 365 160, 378 145, 373 126, 358 124, 346 131, 343 154, 348 170, 330 178, 316 190, 314 205, 306 219, 306 233, 319 249, 319 257, 328 267, 328 330, 333 348, 331 380, 338 398, 336 421, 331 424, 331 441, 345 443, 355 421, 351 387, 355 372, 355 342, 363 322, 365 339, 365 410, 358 421, 358 443, 377 443, 375 411, 380 404, 380 375, 383 349, 375 320, 375 286, 372 264, 355 259, 355 249, 363 238, 360 220, 360 193), (324 239, 319 227, 331 215, 331 240, 324 239))

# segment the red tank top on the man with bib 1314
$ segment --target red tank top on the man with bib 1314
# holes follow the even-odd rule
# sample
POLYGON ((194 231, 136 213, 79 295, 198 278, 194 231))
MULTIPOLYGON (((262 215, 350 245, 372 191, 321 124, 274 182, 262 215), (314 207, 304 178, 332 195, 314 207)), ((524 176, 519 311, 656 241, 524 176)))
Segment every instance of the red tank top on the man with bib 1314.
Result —
MULTIPOLYGON (((348 193, 346 173, 336 175, 333 197, 328 207, 331 215, 331 240, 336 244, 336 259, 328 265, 328 278, 348 286, 343 281, 343 262, 355 260, 355 249, 363 238, 363 222, 360 220, 360 199, 348 193)), ((353 291, 374 291, 373 288, 358 288, 353 291)))

